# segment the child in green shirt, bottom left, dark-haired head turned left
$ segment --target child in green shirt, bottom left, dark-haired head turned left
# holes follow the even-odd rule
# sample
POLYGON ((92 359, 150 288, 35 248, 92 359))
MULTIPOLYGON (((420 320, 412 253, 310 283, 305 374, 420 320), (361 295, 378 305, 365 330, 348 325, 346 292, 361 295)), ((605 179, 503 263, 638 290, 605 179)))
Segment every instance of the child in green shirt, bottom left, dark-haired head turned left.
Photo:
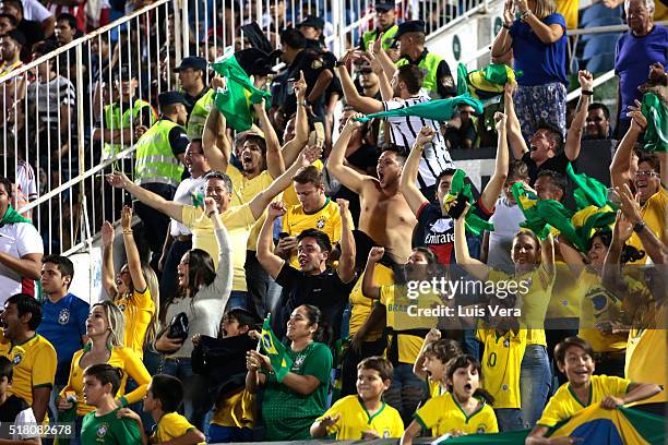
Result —
POLYGON ((142 445, 136 422, 118 416, 116 394, 122 378, 123 372, 107 363, 94 364, 84 371, 84 397, 95 411, 83 420, 82 444, 142 445))

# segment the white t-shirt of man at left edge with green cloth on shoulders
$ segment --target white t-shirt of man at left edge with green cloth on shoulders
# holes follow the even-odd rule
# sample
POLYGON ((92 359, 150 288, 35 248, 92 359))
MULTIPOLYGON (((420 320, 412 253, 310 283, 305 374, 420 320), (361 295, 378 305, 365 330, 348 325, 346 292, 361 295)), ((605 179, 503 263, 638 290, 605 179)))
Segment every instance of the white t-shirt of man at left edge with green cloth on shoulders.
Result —
MULTIPOLYGON (((44 244, 39 232, 32 224, 8 224, 0 227, 0 252, 20 258, 28 253, 44 253, 44 244)), ((7 299, 20 293, 22 289, 22 277, 0 264, 0 306, 4 306, 7 299)))

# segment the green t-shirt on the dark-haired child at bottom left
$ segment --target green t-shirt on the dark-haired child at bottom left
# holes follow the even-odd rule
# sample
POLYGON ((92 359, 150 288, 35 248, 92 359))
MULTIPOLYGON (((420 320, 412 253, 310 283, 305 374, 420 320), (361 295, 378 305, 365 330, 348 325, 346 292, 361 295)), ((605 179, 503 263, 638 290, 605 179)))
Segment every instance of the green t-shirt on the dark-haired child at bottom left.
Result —
MULTIPOLYGON (((120 408, 119 408, 120 409, 120 408)), ((108 414, 96 417, 88 412, 81 428, 81 443, 86 445, 141 445, 142 434, 132 419, 118 419, 118 409, 108 414)))

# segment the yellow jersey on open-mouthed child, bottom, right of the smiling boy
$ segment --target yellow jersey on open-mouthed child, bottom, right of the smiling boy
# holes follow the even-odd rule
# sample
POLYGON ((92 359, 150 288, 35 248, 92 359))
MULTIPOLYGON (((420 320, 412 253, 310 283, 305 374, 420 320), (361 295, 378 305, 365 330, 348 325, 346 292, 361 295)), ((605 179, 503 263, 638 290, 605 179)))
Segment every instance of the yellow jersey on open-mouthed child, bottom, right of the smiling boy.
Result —
POLYGON ((457 430, 464 434, 498 433, 494 410, 489 405, 481 404, 477 411, 466 416, 452 394, 445 393, 427 400, 413 417, 425 430, 431 430, 434 436, 457 430))

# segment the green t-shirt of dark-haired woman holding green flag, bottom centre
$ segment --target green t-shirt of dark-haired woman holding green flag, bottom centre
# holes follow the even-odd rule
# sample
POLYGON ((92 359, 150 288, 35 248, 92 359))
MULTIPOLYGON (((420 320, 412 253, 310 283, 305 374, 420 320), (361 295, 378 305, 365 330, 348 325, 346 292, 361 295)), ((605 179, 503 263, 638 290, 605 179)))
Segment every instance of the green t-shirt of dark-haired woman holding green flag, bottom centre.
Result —
POLYGON ((311 424, 325 411, 325 401, 332 373, 332 352, 320 342, 312 342, 305 350, 295 352, 287 348, 293 359, 290 372, 312 375, 320 381, 318 388, 302 396, 289 389, 271 375, 264 389, 262 419, 266 426, 265 441, 300 441, 311 438, 311 424))

